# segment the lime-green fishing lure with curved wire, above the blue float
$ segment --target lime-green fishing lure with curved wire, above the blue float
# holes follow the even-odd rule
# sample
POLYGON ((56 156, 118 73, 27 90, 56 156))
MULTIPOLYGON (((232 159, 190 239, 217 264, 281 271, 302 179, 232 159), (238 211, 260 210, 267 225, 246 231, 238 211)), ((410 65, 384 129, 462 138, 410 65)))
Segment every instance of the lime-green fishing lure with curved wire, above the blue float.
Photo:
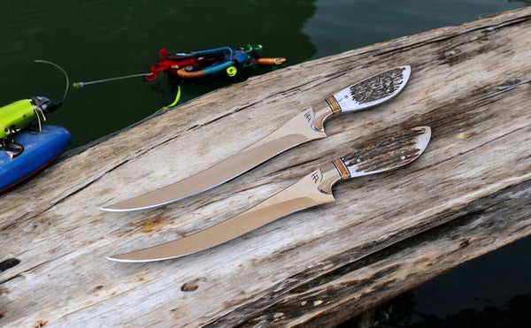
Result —
POLYGON ((21 144, 14 141, 14 134, 27 127, 35 126, 35 123, 38 126, 37 132, 41 132, 42 122, 46 121, 46 115, 57 111, 63 105, 68 92, 68 75, 61 66, 42 59, 35 60, 35 63, 53 65, 65 74, 65 94, 59 102, 36 95, 0 107, 0 149, 3 149, 11 158, 18 156, 24 150, 21 144))

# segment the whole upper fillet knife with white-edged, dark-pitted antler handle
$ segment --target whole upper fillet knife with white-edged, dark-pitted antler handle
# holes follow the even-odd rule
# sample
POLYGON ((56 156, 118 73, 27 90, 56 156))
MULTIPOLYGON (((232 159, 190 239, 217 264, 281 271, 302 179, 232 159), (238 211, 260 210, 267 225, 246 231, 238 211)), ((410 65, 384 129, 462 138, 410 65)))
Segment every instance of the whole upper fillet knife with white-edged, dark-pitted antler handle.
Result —
POLYGON ((399 66, 344 88, 318 106, 310 107, 284 126, 239 153, 186 179, 102 207, 108 211, 145 210, 179 201, 234 179, 258 164, 307 141, 327 136, 325 121, 341 113, 361 111, 384 103, 400 93, 409 80, 410 66, 399 66))

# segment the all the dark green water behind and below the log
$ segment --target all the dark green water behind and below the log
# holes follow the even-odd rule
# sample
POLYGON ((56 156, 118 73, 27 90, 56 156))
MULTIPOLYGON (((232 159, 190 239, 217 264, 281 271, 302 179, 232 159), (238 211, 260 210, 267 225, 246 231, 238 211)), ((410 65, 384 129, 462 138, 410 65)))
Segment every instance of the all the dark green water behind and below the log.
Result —
MULTIPOLYGON (((31 95, 62 96, 62 74, 50 65, 35 64, 37 58, 62 65, 71 81, 148 72, 161 47, 186 52, 260 43, 265 57, 287 57, 287 65, 295 65, 526 5, 507 0, 4 0, 1 4, 2 105, 31 95)), ((181 103, 249 74, 266 72, 183 84, 181 103)), ((48 119, 68 128, 77 147, 149 116, 171 103, 174 92, 164 75, 151 84, 137 78, 71 88, 64 107, 48 119)), ((518 271, 518 278, 492 270, 499 255, 483 256, 480 263, 489 264, 465 265, 396 299, 396 304, 413 302, 413 309, 443 318, 468 308, 483 309, 493 304, 488 300, 496 300, 500 309, 517 295, 526 301, 531 297, 531 257, 522 249, 529 249, 529 240, 498 251, 511 259, 505 265, 518 271), (488 283, 500 280, 504 285, 488 283), (478 285, 481 282, 486 283, 478 285)))

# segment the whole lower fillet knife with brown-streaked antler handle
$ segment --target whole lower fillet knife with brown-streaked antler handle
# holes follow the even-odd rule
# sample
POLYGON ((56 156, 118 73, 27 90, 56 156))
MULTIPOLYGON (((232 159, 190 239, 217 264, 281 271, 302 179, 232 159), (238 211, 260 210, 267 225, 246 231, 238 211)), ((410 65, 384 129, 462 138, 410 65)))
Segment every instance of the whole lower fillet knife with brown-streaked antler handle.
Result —
POLYGON ((334 202, 332 187, 340 180, 386 172, 412 163, 426 149, 430 136, 428 126, 413 127, 392 134, 372 146, 335 159, 291 187, 218 225, 180 240, 107 258, 118 262, 151 262, 213 248, 298 210, 334 202))

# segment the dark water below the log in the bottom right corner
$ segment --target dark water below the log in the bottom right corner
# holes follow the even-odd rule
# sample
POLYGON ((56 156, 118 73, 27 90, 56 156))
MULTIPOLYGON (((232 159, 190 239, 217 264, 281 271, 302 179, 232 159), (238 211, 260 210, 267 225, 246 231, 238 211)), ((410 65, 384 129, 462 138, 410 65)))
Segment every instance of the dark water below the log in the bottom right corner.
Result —
POLYGON ((481 256, 382 305, 376 319, 381 327, 528 327, 530 248, 527 238, 481 256))

